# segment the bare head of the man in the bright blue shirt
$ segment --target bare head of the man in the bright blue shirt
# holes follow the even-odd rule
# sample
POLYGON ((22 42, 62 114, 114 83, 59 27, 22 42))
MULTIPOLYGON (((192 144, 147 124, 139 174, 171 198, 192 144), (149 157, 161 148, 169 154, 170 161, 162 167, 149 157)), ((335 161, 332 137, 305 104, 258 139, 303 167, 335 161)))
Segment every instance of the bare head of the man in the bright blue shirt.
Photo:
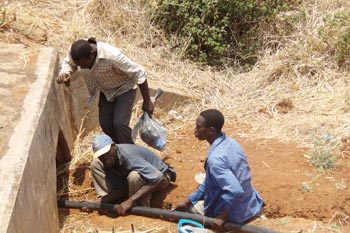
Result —
POLYGON ((196 120, 195 135, 199 140, 207 140, 211 143, 221 134, 224 123, 224 116, 219 110, 205 110, 196 120))

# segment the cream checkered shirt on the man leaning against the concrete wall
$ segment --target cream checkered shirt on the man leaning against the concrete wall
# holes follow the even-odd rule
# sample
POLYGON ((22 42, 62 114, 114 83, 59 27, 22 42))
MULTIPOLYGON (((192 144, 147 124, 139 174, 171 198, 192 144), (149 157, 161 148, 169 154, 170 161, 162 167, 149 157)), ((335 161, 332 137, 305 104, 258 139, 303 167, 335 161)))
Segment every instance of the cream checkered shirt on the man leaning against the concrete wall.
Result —
MULTIPOLYGON (((73 74, 78 67, 74 64, 70 53, 62 62, 60 74, 73 74)), ((131 61, 120 49, 103 42, 97 42, 97 57, 91 69, 81 69, 89 90, 91 103, 99 93, 103 92, 108 101, 145 82, 144 68, 131 61)))

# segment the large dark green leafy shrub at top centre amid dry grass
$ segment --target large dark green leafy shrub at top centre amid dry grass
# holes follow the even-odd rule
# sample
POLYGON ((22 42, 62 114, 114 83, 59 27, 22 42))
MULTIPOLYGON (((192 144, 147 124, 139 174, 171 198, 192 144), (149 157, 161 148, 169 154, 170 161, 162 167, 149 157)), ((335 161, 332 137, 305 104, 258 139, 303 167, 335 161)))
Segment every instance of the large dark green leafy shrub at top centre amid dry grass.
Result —
POLYGON ((254 62, 259 48, 257 29, 288 10, 289 0, 159 0, 154 22, 179 40, 174 48, 185 57, 220 65, 227 59, 254 62))

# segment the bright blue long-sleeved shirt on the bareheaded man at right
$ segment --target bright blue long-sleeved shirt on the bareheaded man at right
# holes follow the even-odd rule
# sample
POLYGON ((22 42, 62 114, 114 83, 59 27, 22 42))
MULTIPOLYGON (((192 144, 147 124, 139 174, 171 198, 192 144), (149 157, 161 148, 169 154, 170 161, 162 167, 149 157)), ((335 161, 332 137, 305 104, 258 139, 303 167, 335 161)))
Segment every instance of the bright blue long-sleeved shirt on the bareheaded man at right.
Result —
POLYGON ((234 139, 224 133, 217 138, 204 168, 205 181, 188 199, 193 205, 204 199, 205 216, 215 218, 227 210, 228 221, 244 223, 261 211, 264 201, 250 183, 247 158, 234 139))

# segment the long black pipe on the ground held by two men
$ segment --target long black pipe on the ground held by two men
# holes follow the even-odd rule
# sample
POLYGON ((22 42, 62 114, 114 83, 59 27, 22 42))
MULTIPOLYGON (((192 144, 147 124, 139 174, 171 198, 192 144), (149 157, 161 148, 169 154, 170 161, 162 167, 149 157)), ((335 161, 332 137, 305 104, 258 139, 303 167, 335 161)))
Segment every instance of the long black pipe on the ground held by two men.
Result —
MULTIPOLYGON (((79 201, 68 201, 58 200, 59 208, 73 208, 82 209, 83 207, 91 210, 106 210, 108 212, 116 212, 119 205, 107 204, 107 203, 94 203, 94 202, 79 202, 79 201)), ((140 215, 151 218, 159 218, 167 221, 177 222, 179 219, 189 219, 201 223, 203 226, 211 228, 214 219, 208 218, 199 214, 191 214, 188 212, 172 211, 166 209, 149 208, 142 206, 135 206, 129 210, 130 214, 140 215)), ((226 222, 224 225, 226 230, 235 230, 237 233, 277 233, 277 231, 264 229, 252 225, 240 225, 232 222, 226 222)))

